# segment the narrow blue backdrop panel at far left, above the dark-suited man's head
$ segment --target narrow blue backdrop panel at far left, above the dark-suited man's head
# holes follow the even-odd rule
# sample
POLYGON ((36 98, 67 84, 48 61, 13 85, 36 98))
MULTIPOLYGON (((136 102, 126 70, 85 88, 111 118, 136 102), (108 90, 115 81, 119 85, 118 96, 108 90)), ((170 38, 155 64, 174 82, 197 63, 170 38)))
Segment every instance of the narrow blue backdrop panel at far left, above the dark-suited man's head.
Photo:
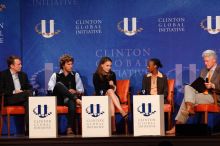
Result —
POLYGON ((9 55, 21 56, 20 23, 20 0, 0 0, 0 70, 9 55))

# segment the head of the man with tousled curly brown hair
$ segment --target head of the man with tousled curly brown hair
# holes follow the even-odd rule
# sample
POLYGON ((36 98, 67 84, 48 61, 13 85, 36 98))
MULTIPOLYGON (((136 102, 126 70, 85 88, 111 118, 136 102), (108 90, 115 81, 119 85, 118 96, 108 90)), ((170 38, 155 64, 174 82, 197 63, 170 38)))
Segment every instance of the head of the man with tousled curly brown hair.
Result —
POLYGON ((60 57, 60 69, 71 72, 73 69, 74 59, 68 54, 64 54, 60 57))

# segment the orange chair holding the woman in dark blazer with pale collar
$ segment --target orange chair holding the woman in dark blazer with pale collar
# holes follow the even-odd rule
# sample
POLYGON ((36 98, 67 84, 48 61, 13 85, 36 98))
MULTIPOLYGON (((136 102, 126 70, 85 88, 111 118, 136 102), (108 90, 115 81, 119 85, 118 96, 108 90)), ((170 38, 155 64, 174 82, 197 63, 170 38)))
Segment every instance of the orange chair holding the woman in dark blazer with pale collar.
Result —
POLYGON ((174 86, 175 80, 167 80, 168 84, 168 95, 167 95, 167 104, 164 104, 164 112, 168 113, 168 129, 172 128, 172 113, 174 111, 174 86))

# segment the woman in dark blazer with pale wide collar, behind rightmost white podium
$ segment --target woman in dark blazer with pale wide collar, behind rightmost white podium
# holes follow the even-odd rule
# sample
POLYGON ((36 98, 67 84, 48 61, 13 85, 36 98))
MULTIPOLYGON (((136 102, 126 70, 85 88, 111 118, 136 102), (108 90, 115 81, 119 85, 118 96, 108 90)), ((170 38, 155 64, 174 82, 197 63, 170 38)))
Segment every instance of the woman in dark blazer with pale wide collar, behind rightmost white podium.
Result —
POLYGON ((142 81, 142 94, 164 95, 164 103, 167 103, 168 94, 167 77, 159 72, 162 64, 159 59, 152 58, 147 63, 148 74, 144 75, 142 81))

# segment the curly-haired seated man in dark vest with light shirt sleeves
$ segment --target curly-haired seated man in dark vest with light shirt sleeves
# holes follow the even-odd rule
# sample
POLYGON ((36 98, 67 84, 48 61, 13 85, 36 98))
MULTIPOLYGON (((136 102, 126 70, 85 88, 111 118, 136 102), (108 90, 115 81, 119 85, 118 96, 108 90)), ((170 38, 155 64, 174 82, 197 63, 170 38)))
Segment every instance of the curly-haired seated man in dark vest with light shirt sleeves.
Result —
POLYGON ((67 134, 73 134, 73 125, 76 104, 81 105, 80 97, 83 92, 83 84, 79 73, 72 71, 74 60, 70 55, 60 57, 60 71, 53 73, 49 83, 48 90, 57 96, 57 104, 68 106, 69 112, 67 116, 67 134))

